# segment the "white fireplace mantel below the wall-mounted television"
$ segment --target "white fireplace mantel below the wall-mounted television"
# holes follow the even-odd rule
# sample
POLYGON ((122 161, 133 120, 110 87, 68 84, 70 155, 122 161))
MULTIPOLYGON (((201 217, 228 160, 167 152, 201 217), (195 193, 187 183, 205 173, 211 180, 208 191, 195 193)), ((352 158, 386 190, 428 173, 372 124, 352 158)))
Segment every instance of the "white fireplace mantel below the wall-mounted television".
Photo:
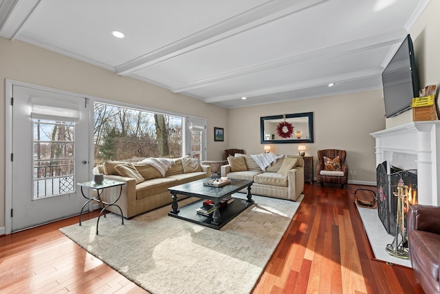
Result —
POLYGON ((439 206, 440 120, 416 121, 370 135, 376 139, 376 166, 387 161, 401 169, 417 168, 419 204, 439 206))

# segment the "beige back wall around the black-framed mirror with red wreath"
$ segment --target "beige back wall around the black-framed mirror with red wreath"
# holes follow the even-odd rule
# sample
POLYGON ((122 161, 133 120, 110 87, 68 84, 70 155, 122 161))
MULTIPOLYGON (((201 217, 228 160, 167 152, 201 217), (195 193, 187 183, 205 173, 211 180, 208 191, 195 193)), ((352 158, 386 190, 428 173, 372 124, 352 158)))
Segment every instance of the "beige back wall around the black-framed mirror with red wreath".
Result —
MULTIPOLYGON (((385 128, 382 90, 230 109, 229 147, 245 149, 247 154, 262 153, 260 117, 300 112, 314 113, 314 143, 305 144, 306 154, 315 158, 314 165, 319 149, 344 149, 349 169, 357 174, 349 180, 376 182, 375 140, 369 134, 385 128)), ((271 147, 275 154, 298 154, 298 144, 271 147)))

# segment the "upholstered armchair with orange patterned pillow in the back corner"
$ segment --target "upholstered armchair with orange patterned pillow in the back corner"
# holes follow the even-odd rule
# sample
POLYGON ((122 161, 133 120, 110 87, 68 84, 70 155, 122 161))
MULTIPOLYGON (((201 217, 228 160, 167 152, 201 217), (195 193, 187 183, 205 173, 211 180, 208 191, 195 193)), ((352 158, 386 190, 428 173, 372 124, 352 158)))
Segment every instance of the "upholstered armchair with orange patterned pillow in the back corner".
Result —
POLYGON ((349 168, 345 165, 347 152, 338 149, 318 150, 318 166, 316 176, 318 182, 323 186, 325 182, 340 184, 341 188, 349 180, 349 168))

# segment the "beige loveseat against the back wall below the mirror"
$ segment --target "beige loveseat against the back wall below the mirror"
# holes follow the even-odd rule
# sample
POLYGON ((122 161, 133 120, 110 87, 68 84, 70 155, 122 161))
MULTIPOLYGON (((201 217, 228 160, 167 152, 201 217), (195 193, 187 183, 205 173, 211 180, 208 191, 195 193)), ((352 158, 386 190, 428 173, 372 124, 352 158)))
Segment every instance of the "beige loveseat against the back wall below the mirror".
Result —
POLYGON ((235 154, 234 157, 228 158, 228 162, 229 165, 221 167, 221 176, 253 180, 252 194, 296 201, 303 193, 304 160, 301 156, 289 155, 279 158, 265 171, 261 170, 250 155, 235 154), (285 160, 285 158, 289 159, 285 160), (243 165, 243 161, 245 165, 243 165))

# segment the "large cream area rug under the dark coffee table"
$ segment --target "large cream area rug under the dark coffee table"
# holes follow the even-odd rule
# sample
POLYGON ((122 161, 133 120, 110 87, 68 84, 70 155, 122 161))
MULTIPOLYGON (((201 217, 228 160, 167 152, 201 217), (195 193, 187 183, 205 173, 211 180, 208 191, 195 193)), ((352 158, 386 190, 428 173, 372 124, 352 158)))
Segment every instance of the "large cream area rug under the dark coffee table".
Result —
MULTIPOLYGON (((245 194, 235 193, 245 199, 245 194)), ((220 230, 155 209, 121 224, 113 213, 60 229, 113 269, 154 294, 250 293, 300 200, 252 196, 255 203, 220 230)), ((195 198, 181 200, 179 206, 195 198)))

